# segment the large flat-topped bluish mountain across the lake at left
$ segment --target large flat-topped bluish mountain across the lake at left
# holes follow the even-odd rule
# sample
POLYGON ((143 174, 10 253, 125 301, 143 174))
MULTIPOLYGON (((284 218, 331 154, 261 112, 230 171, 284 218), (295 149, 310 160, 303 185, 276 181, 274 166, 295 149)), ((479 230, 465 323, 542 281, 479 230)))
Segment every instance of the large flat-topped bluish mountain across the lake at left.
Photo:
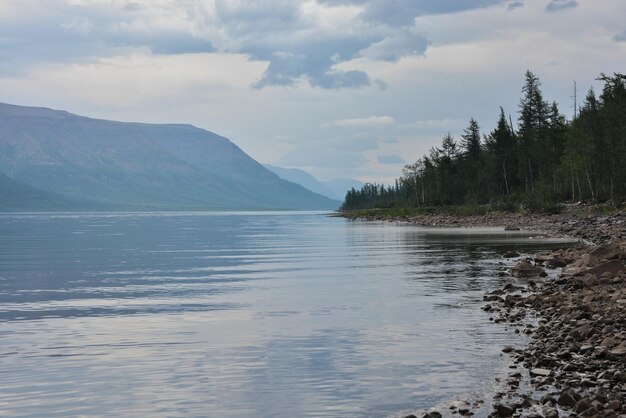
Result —
POLYGON ((0 103, 0 210, 336 209, 191 125, 0 103))

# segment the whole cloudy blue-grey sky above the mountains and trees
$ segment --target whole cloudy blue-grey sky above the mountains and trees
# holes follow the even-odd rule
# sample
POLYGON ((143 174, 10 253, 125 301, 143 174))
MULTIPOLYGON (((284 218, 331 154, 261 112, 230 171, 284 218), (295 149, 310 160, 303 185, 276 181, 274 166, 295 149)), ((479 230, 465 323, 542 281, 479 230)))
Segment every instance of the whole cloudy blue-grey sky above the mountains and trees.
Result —
POLYGON ((391 182, 513 121, 526 70, 573 114, 626 72, 624 0, 0 0, 0 102, 190 123, 262 163, 391 182))

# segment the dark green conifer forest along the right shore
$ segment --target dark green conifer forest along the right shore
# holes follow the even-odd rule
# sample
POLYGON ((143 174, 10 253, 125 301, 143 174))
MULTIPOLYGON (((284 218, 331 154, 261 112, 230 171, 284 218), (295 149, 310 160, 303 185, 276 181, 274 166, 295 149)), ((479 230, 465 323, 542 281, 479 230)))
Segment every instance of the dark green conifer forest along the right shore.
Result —
MULTIPOLYGON (((460 138, 447 134, 441 147, 406 165, 392 186, 352 189, 342 208, 369 209, 491 204, 530 210, 565 201, 626 201, 626 76, 602 74, 573 120, 541 92, 526 72, 517 124, 500 114, 481 135, 473 118, 460 138)), ((494 112, 495 113, 495 112, 494 112)))

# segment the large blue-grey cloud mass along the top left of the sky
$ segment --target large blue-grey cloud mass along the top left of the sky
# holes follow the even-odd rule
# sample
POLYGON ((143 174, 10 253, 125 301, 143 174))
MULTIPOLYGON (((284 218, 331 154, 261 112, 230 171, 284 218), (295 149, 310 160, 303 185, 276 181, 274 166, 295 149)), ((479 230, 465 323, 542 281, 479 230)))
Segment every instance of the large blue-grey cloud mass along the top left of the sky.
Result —
POLYGON ((485 8, 504 0, 4 0, 0 72, 45 63, 150 51, 155 54, 243 54, 266 63, 253 87, 355 89, 374 81, 339 65, 366 57, 396 62, 429 47, 418 16, 485 8), (34 12, 36 10, 43 11, 34 12), (17 19, 15 19, 17 18, 17 19))

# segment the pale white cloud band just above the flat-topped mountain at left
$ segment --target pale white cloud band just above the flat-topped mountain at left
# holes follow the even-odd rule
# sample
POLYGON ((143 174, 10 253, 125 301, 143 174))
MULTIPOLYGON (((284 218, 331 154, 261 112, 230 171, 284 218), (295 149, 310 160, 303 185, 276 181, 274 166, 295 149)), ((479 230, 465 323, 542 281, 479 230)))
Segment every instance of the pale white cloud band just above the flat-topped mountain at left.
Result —
POLYGON ((181 99, 213 101, 233 90, 247 91, 264 69, 236 54, 131 55, 85 64, 48 64, 28 78, 0 78, 5 94, 48 94, 118 108, 173 106, 181 99))

